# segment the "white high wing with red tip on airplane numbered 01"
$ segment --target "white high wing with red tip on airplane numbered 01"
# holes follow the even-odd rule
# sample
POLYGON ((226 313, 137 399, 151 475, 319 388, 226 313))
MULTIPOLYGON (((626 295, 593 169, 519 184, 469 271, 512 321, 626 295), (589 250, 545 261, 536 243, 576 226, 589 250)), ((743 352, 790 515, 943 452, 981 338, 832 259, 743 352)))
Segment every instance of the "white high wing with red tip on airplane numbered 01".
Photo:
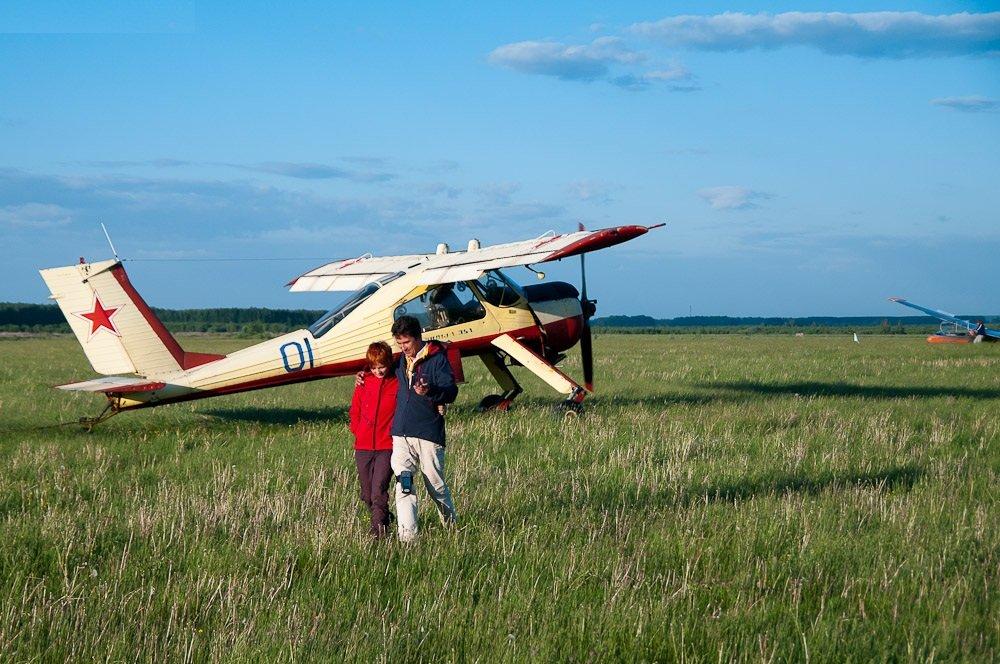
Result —
POLYGON ((365 284, 396 272, 421 270, 417 283, 443 284, 478 279, 483 272, 515 265, 529 265, 559 260, 611 247, 645 234, 655 226, 616 226, 595 231, 580 230, 519 242, 496 244, 468 251, 443 254, 372 257, 328 263, 307 272, 289 285, 293 291, 356 290, 365 284))

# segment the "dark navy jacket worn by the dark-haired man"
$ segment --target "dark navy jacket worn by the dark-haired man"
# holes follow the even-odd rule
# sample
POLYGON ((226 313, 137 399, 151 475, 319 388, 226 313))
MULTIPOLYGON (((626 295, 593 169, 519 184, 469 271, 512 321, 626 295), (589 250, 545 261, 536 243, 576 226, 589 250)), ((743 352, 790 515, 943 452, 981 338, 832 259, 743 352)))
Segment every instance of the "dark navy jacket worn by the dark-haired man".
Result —
POLYGON ((413 367, 412 384, 406 377, 406 358, 399 356, 396 378, 399 393, 396 416, 392 421, 393 436, 412 436, 444 445, 444 416, 437 407, 451 403, 458 396, 458 386, 448 362, 448 353, 439 341, 427 341, 427 355, 413 367), (425 396, 413 391, 413 386, 426 379, 430 389, 425 396))

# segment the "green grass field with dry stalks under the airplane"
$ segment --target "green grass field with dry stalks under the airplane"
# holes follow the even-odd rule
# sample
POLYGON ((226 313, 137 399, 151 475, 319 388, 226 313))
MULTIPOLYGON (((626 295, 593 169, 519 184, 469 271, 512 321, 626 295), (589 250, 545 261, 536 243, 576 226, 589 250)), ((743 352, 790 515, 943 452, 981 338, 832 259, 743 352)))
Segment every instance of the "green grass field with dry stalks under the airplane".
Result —
MULTIPOLYGON (((189 340, 231 350, 245 340, 189 340)), ((340 379, 32 427, 100 397, 0 341, 0 661, 1000 655, 1000 344, 614 336, 586 415, 449 413, 461 526, 370 542, 340 379)), ((579 373, 575 357, 567 360, 579 373)))

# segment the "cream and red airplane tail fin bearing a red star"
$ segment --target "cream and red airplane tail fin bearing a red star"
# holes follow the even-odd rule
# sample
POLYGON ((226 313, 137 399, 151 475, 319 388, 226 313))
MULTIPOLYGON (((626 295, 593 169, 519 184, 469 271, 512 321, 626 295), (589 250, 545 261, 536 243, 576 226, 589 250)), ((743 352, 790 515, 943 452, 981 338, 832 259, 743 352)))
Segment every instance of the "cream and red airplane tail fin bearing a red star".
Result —
POLYGON ((117 259, 40 272, 97 373, 162 376, 225 357, 182 350, 117 259))

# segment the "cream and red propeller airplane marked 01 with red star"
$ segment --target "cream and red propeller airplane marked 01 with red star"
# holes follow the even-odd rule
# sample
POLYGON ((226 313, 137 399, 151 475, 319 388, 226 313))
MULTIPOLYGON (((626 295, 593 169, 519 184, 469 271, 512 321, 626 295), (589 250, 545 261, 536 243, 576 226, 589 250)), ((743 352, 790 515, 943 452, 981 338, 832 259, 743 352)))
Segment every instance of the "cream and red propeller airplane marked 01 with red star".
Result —
MULTIPOLYGON (((416 317, 426 339, 444 342, 456 380, 462 358, 478 356, 500 385, 481 410, 507 410, 522 388, 510 371, 523 366, 557 392, 561 406, 579 412, 593 392, 594 360, 590 318, 596 300, 587 298, 584 255, 626 242, 654 226, 617 226, 574 233, 552 231, 530 240, 464 251, 439 244, 433 254, 372 256, 327 263, 286 284, 293 292, 353 291, 307 329, 230 353, 192 353, 156 317, 129 281, 116 257, 41 270, 94 371, 103 378, 59 389, 101 392, 108 399, 92 428, 126 410, 246 392, 320 378, 353 375, 364 367, 374 341, 387 341, 394 320, 416 317), (580 256, 582 293, 569 283, 520 286, 501 268, 580 256), (556 368, 564 352, 580 343, 583 385, 556 368), (127 374, 127 375, 121 375, 127 374)), ((113 248, 113 247, 112 247, 113 248)))

